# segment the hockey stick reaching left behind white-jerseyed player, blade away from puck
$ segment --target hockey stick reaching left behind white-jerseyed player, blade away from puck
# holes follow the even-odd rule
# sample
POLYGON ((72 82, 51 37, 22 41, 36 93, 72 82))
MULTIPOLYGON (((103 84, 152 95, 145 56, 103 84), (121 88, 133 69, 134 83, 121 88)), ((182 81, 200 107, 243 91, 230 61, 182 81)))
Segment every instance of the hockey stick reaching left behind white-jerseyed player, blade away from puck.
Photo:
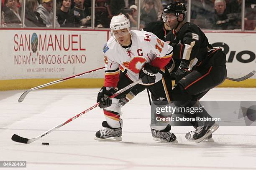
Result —
POLYGON ((42 88, 42 87, 46 87, 46 86, 53 85, 53 84, 56 84, 56 83, 59 83, 59 82, 63 82, 63 81, 72 79, 72 78, 74 78, 74 77, 78 77, 78 76, 81 76, 81 75, 84 75, 84 74, 87 74, 87 73, 90 73, 90 72, 94 72, 94 71, 97 71, 97 70, 101 70, 101 69, 103 69, 103 68, 105 68, 105 67, 100 67, 100 68, 97 68, 97 69, 95 69, 95 70, 90 70, 90 71, 83 72, 83 73, 80 73, 80 74, 77 74, 77 75, 73 75, 73 76, 71 76, 71 77, 67 77, 67 78, 64 78, 64 79, 60 79, 60 80, 56 80, 56 81, 53 81, 53 82, 49 82, 49 83, 46 83, 46 84, 44 84, 44 85, 39 85, 39 86, 37 86, 37 87, 33 87, 33 88, 27 90, 26 92, 24 92, 24 93, 20 96, 18 102, 23 102, 23 100, 25 99, 26 95, 28 95, 28 93, 31 92, 31 91, 33 91, 33 90, 37 90, 37 89, 40 89, 40 88, 42 88))

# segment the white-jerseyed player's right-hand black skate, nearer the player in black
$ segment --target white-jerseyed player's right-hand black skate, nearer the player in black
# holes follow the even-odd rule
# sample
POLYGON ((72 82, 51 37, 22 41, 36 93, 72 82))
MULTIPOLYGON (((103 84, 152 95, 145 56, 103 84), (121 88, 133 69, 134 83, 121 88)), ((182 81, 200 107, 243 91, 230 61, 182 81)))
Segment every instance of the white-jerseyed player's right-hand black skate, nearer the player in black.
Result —
POLYGON ((171 142, 177 143, 176 136, 174 133, 169 132, 171 130, 171 125, 167 125, 164 130, 154 130, 151 129, 151 134, 153 139, 160 142, 171 142))

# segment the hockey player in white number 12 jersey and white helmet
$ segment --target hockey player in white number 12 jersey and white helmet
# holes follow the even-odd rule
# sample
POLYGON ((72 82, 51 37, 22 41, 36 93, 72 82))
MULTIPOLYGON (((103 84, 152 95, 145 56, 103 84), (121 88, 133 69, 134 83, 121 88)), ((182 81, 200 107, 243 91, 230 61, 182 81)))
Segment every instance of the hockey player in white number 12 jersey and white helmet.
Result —
MULTIPOLYGON (((103 48, 105 84, 97 96, 97 102, 100 102, 99 107, 103 108, 106 119, 102 126, 106 129, 97 131, 95 140, 120 141, 123 120, 120 117, 118 101, 128 94, 129 90, 112 99, 108 96, 115 93, 115 89, 120 90, 141 78, 141 86, 146 85, 156 105, 169 104, 172 85, 166 82, 170 82, 171 77, 163 75, 164 66, 172 58, 173 48, 151 32, 130 30, 130 23, 125 15, 114 16, 110 29, 112 37, 103 48)), ((166 75, 169 75, 169 72, 166 75)), ((176 136, 169 132, 170 125, 150 127, 154 140, 176 140, 176 136)))

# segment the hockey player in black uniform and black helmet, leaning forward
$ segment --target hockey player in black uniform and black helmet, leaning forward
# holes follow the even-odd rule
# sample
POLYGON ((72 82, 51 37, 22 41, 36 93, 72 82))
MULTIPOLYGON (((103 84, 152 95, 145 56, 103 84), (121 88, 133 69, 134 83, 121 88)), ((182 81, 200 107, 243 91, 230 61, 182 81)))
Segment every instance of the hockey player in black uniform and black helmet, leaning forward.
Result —
MULTIPOLYGON (((220 48, 213 48, 200 28, 184 20, 186 7, 182 2, 174 2, 164 8, 163 18, 173 30, 166 36, 166 42, 174 47, 173 58, 179 59, 176 75, 183 77, 172 91, 175 105, 179 107, 199 107, 198 100, 210 89, 221 84, 227 75, 225 53, 220 48)), ((171 60, 173 61, 173 60, 171 60)), ((189 114, 189 117, 211 117, 206 110, 189 114)), ((218 125, 215 121, 190 122, 195 128, 186 134, 187 140, 201 142, 209 137, 218 125)))

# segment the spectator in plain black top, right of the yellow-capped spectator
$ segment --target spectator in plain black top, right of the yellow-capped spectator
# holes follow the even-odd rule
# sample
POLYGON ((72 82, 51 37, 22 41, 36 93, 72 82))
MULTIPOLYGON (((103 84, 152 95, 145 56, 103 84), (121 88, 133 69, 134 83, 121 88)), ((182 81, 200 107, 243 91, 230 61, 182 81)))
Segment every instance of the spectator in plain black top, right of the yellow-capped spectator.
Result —
POLYGON ((68 26, 67 20, 69 18, 70 6, 71 0, 62 0, 60 9, 56 11, 56 17, 61 27, 68 26))

